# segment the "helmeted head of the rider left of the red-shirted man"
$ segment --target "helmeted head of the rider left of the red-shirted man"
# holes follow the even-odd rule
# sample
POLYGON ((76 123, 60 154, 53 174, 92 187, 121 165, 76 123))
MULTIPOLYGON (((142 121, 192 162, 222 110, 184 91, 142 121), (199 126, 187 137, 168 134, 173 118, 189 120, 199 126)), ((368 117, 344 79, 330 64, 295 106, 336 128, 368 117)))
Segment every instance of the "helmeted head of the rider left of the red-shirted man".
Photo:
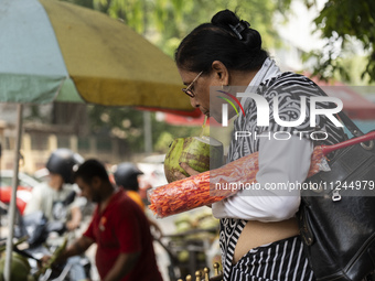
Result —
POLYGON ((69 149, 56 149, 49 158, 45 167, 50 172, 49 185, 61 188, 64 183, 72 184, 74 169, 82 164, 84 159, 69 149))

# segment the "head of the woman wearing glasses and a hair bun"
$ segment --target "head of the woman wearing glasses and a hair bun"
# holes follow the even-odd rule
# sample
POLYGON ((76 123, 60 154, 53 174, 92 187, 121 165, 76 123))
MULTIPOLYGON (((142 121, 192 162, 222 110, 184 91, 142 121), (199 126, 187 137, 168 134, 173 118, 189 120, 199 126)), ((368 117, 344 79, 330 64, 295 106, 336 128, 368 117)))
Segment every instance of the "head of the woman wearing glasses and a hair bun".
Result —
POLYGON ((183 83, 189 86, 196 78, 190 91, 185 90, 192 106, 217 121, 217 116, 210 112, 210 87, 244 86, 234 84, 257 72, 267 57, 260 34, 229 10, 219 11, 211 23, 195 28, 174 55, 183 83))

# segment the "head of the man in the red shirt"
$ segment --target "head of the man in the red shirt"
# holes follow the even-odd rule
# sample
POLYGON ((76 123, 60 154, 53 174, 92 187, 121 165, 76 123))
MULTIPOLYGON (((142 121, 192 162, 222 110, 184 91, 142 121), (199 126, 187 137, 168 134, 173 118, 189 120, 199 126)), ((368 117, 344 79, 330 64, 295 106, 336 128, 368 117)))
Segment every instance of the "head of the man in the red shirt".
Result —
POLYGON ((106 167, 95 159, 79 165, 74 173, 74 181, 82 192, 81 195, 95 203, 101 202, 108 191, 113 190, 106 167))

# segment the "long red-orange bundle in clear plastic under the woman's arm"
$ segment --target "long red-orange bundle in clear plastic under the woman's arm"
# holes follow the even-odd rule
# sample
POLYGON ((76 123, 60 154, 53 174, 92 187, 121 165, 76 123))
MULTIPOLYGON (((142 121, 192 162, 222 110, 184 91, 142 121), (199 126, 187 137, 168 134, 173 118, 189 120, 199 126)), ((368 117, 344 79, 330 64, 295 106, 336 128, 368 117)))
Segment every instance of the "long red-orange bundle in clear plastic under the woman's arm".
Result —
MULTIPOLYGON (((322 171, 324 155, 330 152, 374 139, 375 131, 336 144, 315 147, 311 156, 308 177, 322 171)), ((255 183, 258 170, 258 152, 255 152, 222 167, 151 190, 149 192, 151 202, 149 208, 158 217, 167 217, 211 205, 234 195, 240 190, 236 183, 242 183, 248 190, 253 187, 257 190, 258 186, 255 183), (231 185, 233 183, 235 185, 231 185), (223 186, 223 188, 216 188, 216 184, 223 186)))

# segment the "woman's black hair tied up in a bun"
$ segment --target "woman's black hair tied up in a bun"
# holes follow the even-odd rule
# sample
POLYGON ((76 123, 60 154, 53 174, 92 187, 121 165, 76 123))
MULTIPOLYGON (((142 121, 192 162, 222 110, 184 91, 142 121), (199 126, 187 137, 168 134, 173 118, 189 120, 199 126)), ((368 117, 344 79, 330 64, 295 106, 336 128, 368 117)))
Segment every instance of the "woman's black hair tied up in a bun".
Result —
POLYGON ((261 36, 250 24, 229 11, 217 12, 211 23, 203 23, 184 37, 175 51, 179 68, 211 72, 214 61, 233 71, 257 71, 268 53, 261 48, 261 36))

